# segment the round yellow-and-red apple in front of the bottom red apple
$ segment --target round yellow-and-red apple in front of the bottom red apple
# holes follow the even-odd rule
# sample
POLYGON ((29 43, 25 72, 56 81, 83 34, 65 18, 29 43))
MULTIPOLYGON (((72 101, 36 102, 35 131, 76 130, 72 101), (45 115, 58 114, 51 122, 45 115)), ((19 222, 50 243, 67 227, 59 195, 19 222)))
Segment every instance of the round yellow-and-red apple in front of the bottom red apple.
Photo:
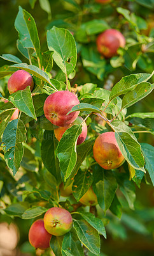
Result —
POLYGON ((69 232, 73 226, 71 214, 59 207, 48 209, 44 216, 45 229, 53 236, 62 236, 69 232))

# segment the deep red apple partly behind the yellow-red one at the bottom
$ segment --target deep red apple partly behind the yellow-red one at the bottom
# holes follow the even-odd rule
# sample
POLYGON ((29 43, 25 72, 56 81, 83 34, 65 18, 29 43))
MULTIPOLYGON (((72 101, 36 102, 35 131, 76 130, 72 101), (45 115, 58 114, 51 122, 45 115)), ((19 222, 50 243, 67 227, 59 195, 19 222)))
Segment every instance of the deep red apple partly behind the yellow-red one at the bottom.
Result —
POLYGON ((29 229, 29 243, 32 246, 41 250, 49 248, 51 237, 52 235, 45 229, 43 219, 36 220, 32 223, 29 229))

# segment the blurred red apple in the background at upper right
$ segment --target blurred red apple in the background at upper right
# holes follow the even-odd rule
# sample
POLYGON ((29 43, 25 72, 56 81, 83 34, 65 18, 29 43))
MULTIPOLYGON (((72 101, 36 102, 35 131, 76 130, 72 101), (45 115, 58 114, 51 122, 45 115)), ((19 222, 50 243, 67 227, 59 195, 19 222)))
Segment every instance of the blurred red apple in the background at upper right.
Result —
POLYGON ((116 29, 107 29, 96 39, 97 50, 106 58, 111 58, 117 54, 119 47, 125 46, 125 37, 116 29))

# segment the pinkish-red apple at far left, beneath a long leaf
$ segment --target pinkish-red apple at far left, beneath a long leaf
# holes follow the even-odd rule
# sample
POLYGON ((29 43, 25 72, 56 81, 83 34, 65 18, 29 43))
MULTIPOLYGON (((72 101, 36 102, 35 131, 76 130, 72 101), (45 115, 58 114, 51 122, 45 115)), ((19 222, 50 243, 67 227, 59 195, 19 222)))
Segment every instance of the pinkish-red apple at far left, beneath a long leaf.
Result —
POLYGON ((34 82, 31 74, 25 70, 17 70, 8 79, 8 90, 11 93, 24 90, 27 86, 30 86, 31 91, 34 88, 34 82))

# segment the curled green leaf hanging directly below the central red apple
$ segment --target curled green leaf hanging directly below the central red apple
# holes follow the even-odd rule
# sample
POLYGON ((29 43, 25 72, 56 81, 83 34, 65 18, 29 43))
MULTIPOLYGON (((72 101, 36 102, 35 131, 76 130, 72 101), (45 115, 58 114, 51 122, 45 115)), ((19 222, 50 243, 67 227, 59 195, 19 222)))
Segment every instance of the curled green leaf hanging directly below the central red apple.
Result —
POLYGON ((76 164, 76 143, 81 134, 81 125, 73 125, 64 132, 57 147, 57 156, 60 162, 60 170, 64 174, 64 181, 71 175, 76 164))

